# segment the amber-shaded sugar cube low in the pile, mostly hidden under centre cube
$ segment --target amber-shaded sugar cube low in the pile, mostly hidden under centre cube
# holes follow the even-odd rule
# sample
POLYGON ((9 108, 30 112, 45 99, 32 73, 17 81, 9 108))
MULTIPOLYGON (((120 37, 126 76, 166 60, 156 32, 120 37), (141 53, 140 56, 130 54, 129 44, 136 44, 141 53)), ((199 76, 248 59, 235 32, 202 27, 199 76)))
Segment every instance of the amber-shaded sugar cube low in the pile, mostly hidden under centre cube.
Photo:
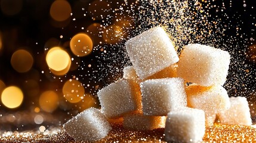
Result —
POLYGON ((127 114, 124 116, 124 128, 132 130, 153 130, 165 127, 165 116, 143 116, 127 114))

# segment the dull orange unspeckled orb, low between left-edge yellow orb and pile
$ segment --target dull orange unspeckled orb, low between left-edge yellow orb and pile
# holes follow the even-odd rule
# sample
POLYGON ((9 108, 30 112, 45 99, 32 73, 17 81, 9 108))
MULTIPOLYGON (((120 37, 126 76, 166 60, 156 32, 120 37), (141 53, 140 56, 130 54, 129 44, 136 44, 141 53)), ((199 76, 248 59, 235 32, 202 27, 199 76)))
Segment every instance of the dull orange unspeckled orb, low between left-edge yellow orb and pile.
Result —
POLYGON ((40 95, 39 105, 42 110, 53 112, 58 107, 58 95, 54 91, 45 91, 40 95))

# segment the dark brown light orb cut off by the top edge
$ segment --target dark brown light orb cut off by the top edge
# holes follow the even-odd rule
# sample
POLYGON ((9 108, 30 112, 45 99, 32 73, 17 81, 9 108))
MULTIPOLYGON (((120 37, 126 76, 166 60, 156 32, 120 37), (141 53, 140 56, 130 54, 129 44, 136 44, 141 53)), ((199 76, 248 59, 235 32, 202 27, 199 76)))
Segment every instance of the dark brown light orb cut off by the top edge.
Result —
POLYGON ((71 13, 71 6, 66 0, 55 0, 53 4, 51 4, 50 15, 55 21, 67 20, 71 13))

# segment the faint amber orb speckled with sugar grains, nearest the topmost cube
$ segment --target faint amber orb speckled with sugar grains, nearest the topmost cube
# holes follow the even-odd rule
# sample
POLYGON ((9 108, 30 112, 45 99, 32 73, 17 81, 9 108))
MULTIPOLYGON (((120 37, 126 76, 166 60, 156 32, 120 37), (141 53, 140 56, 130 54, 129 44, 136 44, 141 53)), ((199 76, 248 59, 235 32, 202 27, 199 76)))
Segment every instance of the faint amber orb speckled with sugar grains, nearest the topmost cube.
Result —
POLYGON ((109 26, 103 32, 103 39, 107 43, 118 43, 124 37, 124 33, 121 27, 119 26, 109 26))

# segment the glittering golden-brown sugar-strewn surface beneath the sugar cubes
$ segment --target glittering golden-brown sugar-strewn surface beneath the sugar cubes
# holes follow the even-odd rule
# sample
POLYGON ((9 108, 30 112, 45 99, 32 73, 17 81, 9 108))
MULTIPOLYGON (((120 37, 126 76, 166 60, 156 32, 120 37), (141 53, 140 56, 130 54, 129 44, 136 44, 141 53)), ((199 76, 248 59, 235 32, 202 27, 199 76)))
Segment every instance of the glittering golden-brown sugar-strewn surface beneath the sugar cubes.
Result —
MULTIPOLYGON (((214 125, 207 127, 203 142, 256 142, 254 126, 214 125)), ((0 142, 75 142, 62 129, 53 129, 48 133, 5 132, 0 142)), ((134 131, 113 125, 109 135, 97 142, 165 142, 164 129, 134 131)))

